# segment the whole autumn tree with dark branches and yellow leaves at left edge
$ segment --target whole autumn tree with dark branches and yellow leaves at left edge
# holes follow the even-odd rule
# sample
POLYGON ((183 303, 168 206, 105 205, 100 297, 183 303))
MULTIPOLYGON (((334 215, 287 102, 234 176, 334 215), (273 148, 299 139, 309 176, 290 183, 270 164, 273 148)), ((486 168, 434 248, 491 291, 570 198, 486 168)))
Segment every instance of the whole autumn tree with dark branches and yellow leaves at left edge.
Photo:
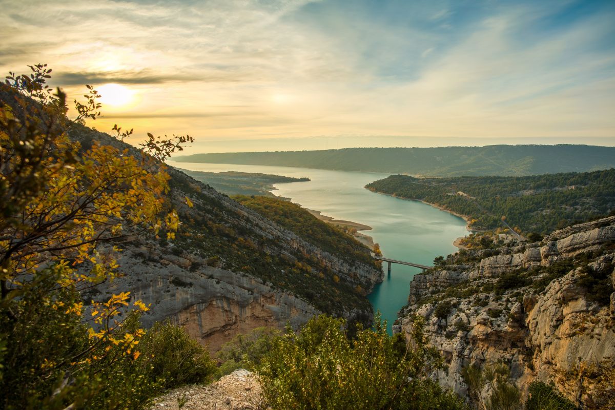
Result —
MULTIPOLYGON (((22 345, 41 337, 27 330, 35 323, 52 332, 80 332, 84 302, 79 291, 117 275, 122 240, 146 231, 164 231, 173 239, 179 221, 164 205, 169 176, 161 161, 191 141, 189 136, 153 138, 143 151, 99 141, 82 146, 69 133, 100 114, 100 95, 87 86, 87 103, 75 101, 78 115, 71 121, 65 93, 52 94, 46 84, 51 70, 42 64, 30 68, 30 75, 10 73, 0 84, 0 310, 6 315, 0 347, 12 368, 21 365, 16 358, 22 345), (41 322, 44 317, 49 323, 41 322), (19 329, 23 338, 15 339, 19 329)), ((114 128, 119 134, 121 128, 114 128)), ((127 333, 123 326, 130 316, 124 313, 129 306, 148 307, 130 299, 129 293, 119 293, 92 303, 95 325, 84 333, 87 337, 71 339, 69 357, 47 350, 49 357, 36 355, 43 361, 28 368, 33 385, 22 386, 22 392, 53 382, 58 374, 82 374, 94 361, 109 366, 125 356, 137 360, 145 331, 127 333)), ((65 393, 79 380, 64 379, 55 384, 58 406, 76 400, 65 393)))

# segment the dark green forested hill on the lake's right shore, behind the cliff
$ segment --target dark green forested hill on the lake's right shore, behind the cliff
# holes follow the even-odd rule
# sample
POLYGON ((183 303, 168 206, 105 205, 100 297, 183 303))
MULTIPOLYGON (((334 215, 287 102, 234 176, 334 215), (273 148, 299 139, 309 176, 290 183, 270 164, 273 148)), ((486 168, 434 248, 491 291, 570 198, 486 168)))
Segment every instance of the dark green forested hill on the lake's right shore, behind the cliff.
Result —
POLYGON ((476 229, 504 226, 504 216, 510 227, 546 234, 615 209, 615 169, 520 177, 391 175, 366 187, 467 215, 476 229))

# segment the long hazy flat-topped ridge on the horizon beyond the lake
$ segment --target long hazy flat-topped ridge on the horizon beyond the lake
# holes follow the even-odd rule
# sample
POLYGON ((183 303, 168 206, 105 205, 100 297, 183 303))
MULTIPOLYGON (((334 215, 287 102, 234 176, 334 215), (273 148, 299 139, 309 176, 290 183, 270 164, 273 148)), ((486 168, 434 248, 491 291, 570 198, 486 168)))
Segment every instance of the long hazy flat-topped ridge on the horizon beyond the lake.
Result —
POLYGON ((423 176, 540 175, 615 167, 615 147, 490 145, 438 148, 344 148, 327 151, 227 152, 173 157, 177 162, 277 165, 423 176))

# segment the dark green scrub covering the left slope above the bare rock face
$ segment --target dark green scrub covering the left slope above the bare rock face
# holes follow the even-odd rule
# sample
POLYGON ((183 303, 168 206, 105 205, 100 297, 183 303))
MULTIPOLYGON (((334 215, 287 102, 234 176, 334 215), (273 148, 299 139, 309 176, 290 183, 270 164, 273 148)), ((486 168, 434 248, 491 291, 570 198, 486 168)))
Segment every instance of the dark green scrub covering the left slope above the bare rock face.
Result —
MULTIPOLYGON (((178 256, 184 252, 202 256, 208 266, 261 278, 276 288, 305 299, 321 312, 340 316, 356 310, 365 312, 365 317, 362 317, 365 323, 371 320, 371 305, 364 296, 370 284, 362 282, 357 275, 341 274, 322 256, 310 253, 307 248, 292 248, 286 239, 264 235, 252 224, 244 223, 247 216, 240 208, 236 210, 221 203, 217 194, 212 195, 207 187, 179 171, 169 173, 172 195, 176 192, 189 195, 194 206, 178 208, 178 215, 185 225, 177 232, 173 243, 161 239, 161 246, 170 248, 178 256)), ((332 250, 336 258, 346 258, 349 269, 366 269, 366 263, 369 264, 367 269, 378 269, 373 260, 365 257, 369 254, 367 248, 341 232, 335 232, 335 235, 338 240, 343 239, 340 245, 344 245, 344 241, 351 243, 357 257, 363 257, 363 260, 353 259, 339 250, 332 250)), ((310 243, 322 246, 317 242, 310 243)), ((150 262, 146 254, 143 254, 143 259, 150 262)), ((193 265, 191 269, 198 267, 193 265)))

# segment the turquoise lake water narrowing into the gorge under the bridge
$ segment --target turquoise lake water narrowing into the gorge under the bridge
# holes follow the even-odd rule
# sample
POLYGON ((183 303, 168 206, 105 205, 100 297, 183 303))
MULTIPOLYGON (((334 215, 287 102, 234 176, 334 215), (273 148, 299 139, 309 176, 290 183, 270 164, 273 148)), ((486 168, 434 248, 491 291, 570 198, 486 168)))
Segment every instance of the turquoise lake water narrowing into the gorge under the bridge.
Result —
MULTIPOLYGON (((421 202, 375 194, 364 188, 389 174, 173 161, 169 161, 169 165, 194 171, 306 176, 311 181, 276 184, 274 194, 335 219, 371 226, 371 231, 362 232, 379 243, 386 258, 431 266, 436 256, 454 253, 457 249, 453 241, 467 234, 466 222, 457 216, 421 202)), ((386 272, 386 263, 383 267, 386 272)), ((380 310, 383 319, 387 320, 389 331, 397 318, 397 311, 408 302, 410 280, 420 271, 415 267, 393 264, 391 277, 385 275, 384 282, 376 285, 368 296, 374 311, 380 310)))

